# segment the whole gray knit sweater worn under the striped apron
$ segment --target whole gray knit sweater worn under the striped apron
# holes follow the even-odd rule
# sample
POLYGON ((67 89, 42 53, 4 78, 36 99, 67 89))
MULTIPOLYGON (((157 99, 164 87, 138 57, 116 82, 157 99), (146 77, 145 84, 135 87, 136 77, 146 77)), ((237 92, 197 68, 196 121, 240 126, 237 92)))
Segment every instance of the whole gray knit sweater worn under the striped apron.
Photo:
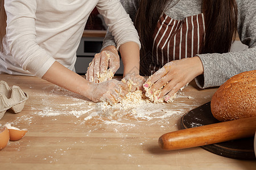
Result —
MULTIPOLYGON (((140 0, 121 0, 130 18, 134 20, 140 0)), ((201 14, 202 0, 174 0, 164 11, 176 20, 201 14)), ((200 88, 220 86, 233 75, 256 69, 256 1, 237 0, 237 29, 241 42, 249 49, 224 54, 199 54, 204 74, 195 78, 200 88)), ((103 48, 115 45, 110 32, 106 34, 103 48)))

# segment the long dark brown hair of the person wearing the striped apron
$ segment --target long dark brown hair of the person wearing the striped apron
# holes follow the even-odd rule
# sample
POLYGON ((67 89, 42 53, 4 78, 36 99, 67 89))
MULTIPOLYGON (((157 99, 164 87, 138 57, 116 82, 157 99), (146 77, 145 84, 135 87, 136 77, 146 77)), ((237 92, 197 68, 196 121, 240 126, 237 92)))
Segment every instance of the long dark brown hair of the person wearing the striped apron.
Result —
MULTIPOLYGON (((141 0, 135 17, 135 27, 142 43, 141 56, 152 49, 152 33, 172 0, 141 0)), ((205 39, 200 53, 229 52, 237 31, 236 0, 203 0, 205 39)))

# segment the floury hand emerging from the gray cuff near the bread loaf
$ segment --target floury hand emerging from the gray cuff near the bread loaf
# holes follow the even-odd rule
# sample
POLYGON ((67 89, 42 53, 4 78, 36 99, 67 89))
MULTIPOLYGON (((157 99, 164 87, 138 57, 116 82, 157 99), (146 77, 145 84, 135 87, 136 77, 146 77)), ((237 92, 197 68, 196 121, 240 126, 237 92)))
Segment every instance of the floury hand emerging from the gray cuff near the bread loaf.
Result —
POLYGON ((150 94, 163 87, 159 99, 168 101, 172 96, 191 82, 196 76, 203 74, 203 64, 199 57, 184 58, 167 63, 144 83, 150 94))

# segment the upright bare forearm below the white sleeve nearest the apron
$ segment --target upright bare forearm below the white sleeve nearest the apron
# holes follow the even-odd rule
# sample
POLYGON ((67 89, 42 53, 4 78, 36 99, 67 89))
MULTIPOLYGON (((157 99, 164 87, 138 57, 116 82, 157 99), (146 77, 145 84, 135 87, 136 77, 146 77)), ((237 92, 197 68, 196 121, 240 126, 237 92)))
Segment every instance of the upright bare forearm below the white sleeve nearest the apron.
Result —
POLYGON ((123 76, 139 74, 139 45, 136 42, 126 42, 119 48, 123 61, 123 76))

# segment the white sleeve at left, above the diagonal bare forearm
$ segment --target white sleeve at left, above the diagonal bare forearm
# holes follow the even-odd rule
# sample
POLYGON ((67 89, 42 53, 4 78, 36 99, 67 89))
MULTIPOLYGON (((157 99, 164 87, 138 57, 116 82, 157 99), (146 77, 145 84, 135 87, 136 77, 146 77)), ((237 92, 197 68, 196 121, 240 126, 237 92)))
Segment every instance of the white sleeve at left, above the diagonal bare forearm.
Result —
POLYGON ((55 59, 36 42, 36 1, 5 1, 6 37, 14 59, 23 70, 42 77, 55 59))

